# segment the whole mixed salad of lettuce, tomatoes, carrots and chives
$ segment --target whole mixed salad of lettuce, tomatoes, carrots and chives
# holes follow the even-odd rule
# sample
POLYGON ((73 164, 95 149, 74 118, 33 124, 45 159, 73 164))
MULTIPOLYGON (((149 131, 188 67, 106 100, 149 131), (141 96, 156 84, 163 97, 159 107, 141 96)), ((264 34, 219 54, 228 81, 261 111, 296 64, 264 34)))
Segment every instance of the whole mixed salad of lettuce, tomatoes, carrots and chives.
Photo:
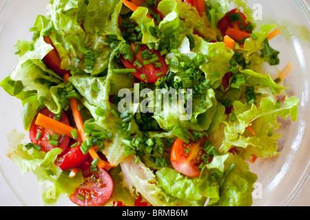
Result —
POLYGON ((278 156, 278 118, 297 118, 291 63, 262 69, 280 63, 275 25, 241 0, 48 6, 0 83, 30 139, 8 133, 8 157, 45 184, 45 204, 251 206, 249 163, 278 156))

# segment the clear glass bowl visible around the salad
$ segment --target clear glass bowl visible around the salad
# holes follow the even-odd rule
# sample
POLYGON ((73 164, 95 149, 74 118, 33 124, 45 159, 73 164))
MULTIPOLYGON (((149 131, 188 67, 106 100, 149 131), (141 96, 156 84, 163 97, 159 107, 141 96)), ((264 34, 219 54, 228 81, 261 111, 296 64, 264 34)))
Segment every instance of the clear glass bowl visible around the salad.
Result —
MULTIPOLYGON (((14 45, 18 40, 31 39, 29 28, 38 14, 48 12, 49 0, 1 0, 0 7, 0 80, 8 76, 17 65, 14 45)), ((282 125, 283 137, 279 140, 280 156, 257 159, 249 164, 251 171, 258 174, 253 193, 253 206, 289 206, 309 178, 310 135, 310 13, 306 0, 260 0, 248 1, 254 9, 257 23, 275 23, 280 35, 270 41, 280 51, 280 65, 269 68, 269 74, 276 74, 289 61, 293 71, 285 79, 289 87, 287 94, 300 98, 298 120, 286 121, 282 125)), ((309 3, 309 1, 308 1, 309 3)), ((10 188, 25 206, 41 206, 40 186, 32 173, 21 174, 7 156, 6 133, 13 129, 23 131, 21 123, 21 102, 0 89, 0 170, 10 188)), ((26 137, 28 137, 27 133, 26 137)), ((72 205, 64 197, 56 205, 72 205)))

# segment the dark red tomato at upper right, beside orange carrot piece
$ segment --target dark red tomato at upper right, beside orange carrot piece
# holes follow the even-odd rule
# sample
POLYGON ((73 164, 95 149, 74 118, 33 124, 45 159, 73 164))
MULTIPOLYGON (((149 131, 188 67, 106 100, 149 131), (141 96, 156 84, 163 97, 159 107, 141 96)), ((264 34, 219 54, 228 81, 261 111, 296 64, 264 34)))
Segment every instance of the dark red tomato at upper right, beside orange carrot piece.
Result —
POLYGON ((236 12, 236 10, 237 8, 231 10, 230 12, 227 12, 225 16, 222 19, 220 19, 220 21, 218 21, 218 29, 220 30, 220 33, 223 36, 225 36, 227 28, 234 28, 240 30, 239 28, 240 21, 231 22, 229 19, 229 14, 240 14, 243 27, 245 28, 245 26, 247 25, 247 23, 245 22, 245 20, 247 19, 247 17, 245 17, 245 14, 243 14, 242 12, 236 12))

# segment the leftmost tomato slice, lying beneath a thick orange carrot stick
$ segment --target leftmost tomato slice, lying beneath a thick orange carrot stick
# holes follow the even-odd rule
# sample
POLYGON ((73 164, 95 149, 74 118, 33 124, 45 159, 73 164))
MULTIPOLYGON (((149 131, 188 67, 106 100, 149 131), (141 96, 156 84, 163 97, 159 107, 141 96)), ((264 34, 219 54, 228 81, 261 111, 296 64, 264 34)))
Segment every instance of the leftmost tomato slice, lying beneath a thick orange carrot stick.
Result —
MULTIPOLYGON (((48 108, 41 109, 39 111, 39 113, 46 115, 50 118, 55 118, 55 114, 52 113, 48 108)), ((35 124, 35 122, 37 120, 37 116, 38 115, 36 115, 34 117, 34 119, 32 120, 32 123, 30 125, 29 137, 30 137, 31 142, 34 144, 39 144, 41 146, 41 150, 43 152, 48 152, 48 151, 50 151, 56 147, 59 147, 63 151, 65 151, 65 149, 67 148, 67 146, 70 142, 70 137, 68 137, 66 135, 59 135, 59 138, 57 140, 58 145, 57 146, 51 145, 50 140, 48 140, 48 135, 50 135, 52 137, 52 135, 54 135, 56 133, 54 131, 51 131, 49 129, 45 129, 45 128, 35 124), (41 136, 40 136, 39 140, 37 140, 39 133, 41 133, 41 136)), ((63 111, 63 114, 61 115, 61 119, 59 121, 63 122, 64 124, 68 124, 70 126, 69 119, 68 119, 67 115, 65 115, 64 111, 63 111)))

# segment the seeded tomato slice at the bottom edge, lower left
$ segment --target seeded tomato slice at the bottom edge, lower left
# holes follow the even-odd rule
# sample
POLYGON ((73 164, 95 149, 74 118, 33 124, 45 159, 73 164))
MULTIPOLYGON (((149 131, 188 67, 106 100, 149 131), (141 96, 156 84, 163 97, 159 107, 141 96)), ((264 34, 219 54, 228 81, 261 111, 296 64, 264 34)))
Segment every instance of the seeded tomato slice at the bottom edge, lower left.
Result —
POLYGON ((74 190, 70 200, 79 206, 101 206, 110 198, 114 188, 110 175, 101 168, 91 172, 87 164, 81 168, 84 183, 74 190))

